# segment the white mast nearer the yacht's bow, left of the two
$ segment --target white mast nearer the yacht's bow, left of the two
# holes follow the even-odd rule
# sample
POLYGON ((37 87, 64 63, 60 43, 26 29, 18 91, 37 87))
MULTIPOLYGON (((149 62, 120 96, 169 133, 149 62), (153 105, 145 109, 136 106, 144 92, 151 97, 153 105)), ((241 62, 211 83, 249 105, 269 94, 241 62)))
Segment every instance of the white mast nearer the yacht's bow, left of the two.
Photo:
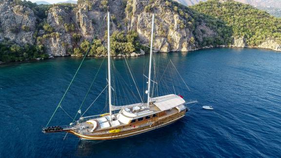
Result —
POLYGON ((109 97, 109 116, 112 120, 111 115, 111 74, 110 74, 110 14, 107 11, 107 57, 108 57, 108 97, 109 97))

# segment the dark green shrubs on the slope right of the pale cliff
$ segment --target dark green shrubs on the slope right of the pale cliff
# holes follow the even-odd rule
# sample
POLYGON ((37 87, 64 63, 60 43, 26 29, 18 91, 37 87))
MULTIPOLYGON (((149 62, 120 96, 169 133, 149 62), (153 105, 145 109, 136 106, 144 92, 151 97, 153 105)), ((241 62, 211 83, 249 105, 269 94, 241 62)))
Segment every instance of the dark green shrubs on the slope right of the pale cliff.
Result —
MULTIPOLYGON (((195 39, 191 40, 191 43, 195 43, 200 47, 203 47, 209 45, 228 45, 232 42, 232 28, 227 26, 223 20, 206 14, 201 14, 195 9, 186 7, 172 0, 166 0, 165 6, 180 15, 182 19, 178 22, 178 27, 180 29, 188 28, 192 31, 195 39), (202 24, 216 31, 216 36, 212 38, 202 38, 202 34, 205 33, 205 30, 201 29, 200 33, 196 29, 202 24)), ((173 28, 173 26, 170 27, 170 29, 173 28)), ((167 38, 168 41, 173 42, 171 37, 168 36, 167 38)))

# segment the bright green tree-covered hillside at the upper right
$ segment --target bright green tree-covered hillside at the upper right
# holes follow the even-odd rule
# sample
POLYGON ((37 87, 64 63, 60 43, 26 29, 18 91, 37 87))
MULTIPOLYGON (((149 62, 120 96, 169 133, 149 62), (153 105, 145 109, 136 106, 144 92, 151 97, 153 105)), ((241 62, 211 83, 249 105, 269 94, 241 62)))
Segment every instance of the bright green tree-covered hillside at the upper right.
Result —
POLYGON ((281 43, 281 19, 251 5, 233 0, 223 3, 219 0, 208 0, 192 8, 225 21, 226 26, 232 29, 233 36, 245 38, 248 45, 259 45, 268 38, 281 43))

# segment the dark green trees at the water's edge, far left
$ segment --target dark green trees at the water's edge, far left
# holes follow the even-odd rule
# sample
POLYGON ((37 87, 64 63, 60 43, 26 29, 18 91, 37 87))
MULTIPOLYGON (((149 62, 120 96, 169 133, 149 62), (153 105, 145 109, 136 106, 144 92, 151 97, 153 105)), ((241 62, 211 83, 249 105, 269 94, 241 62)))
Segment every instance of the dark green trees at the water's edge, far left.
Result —
POLYGON ((23 47, 7 40, 0 43, 0 61, 22 61, 28 59, 43 58, 49 56, 44 53, 44 47, 41 44, 29 45, 25 44, 23 47))

